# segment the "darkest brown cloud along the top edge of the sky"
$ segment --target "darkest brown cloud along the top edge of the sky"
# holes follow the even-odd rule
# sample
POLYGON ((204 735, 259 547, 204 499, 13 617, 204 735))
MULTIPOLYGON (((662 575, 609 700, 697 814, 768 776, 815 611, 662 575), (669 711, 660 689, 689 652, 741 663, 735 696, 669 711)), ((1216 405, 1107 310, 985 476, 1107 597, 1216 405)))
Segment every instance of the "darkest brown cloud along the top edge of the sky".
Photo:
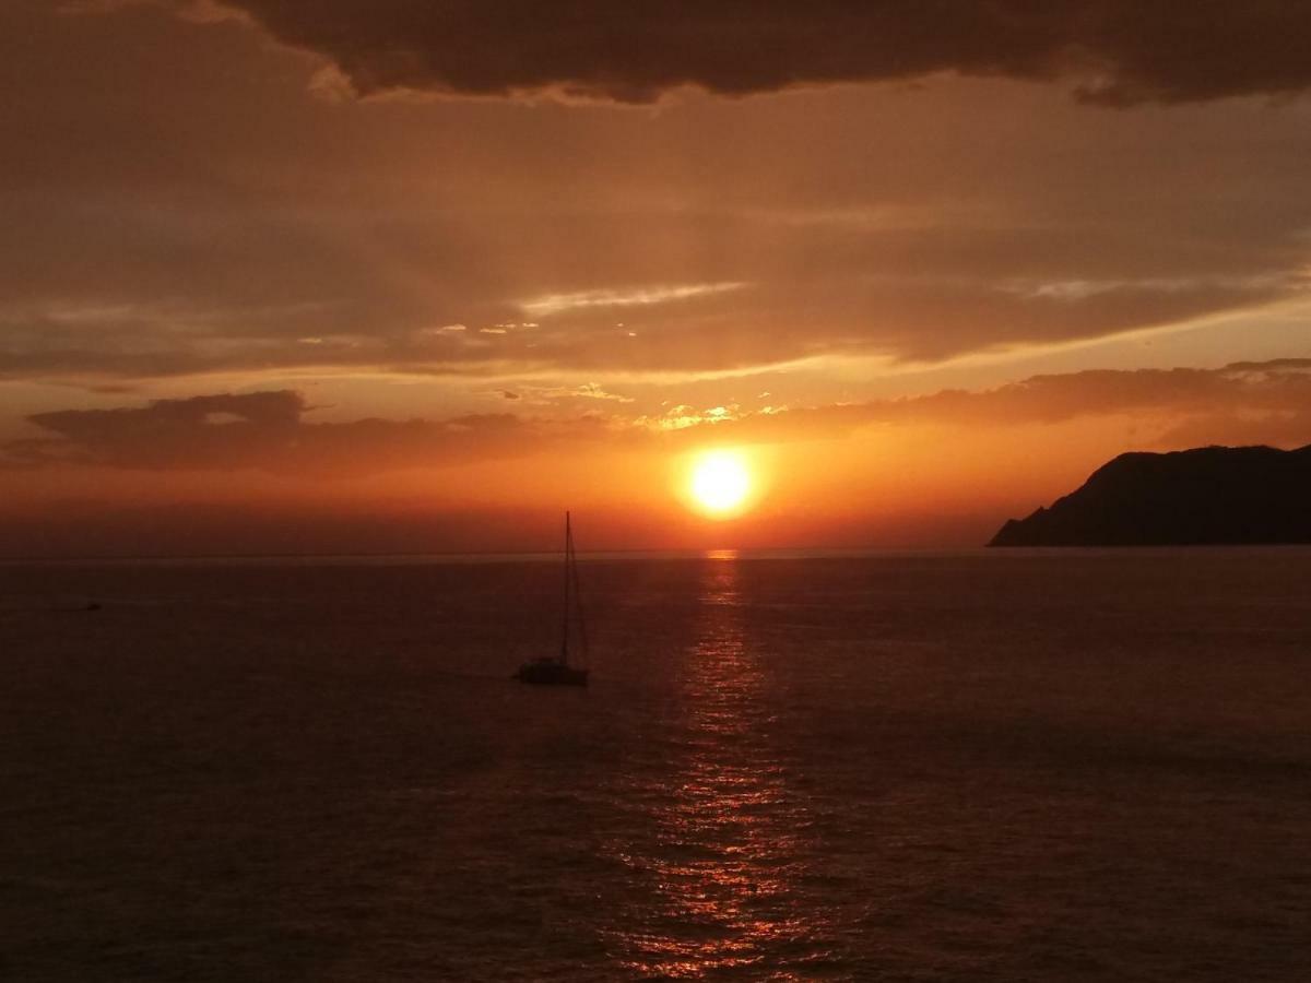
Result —
MULTIPOLYGON (((1104 105, 1311 84, 1311 8, 1287 0, 225 0, 329 58, 359 94, 558 93, 641 104, 936 72, 1070 79, 1104 105)), ((190 8, 190 4, 186 4, 190 8)))

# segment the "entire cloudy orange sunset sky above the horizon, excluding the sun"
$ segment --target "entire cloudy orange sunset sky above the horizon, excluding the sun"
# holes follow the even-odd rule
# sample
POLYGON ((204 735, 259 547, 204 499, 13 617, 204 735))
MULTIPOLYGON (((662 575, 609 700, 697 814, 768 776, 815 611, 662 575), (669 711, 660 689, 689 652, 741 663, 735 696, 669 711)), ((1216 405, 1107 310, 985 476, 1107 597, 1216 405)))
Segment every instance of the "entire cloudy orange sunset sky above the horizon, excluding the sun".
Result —
POLYGON ((1311 443, 1311 8, 7 0, 0 556, 969 547, 1311 443), (709 448, 743 506, 688 501, 709 448))

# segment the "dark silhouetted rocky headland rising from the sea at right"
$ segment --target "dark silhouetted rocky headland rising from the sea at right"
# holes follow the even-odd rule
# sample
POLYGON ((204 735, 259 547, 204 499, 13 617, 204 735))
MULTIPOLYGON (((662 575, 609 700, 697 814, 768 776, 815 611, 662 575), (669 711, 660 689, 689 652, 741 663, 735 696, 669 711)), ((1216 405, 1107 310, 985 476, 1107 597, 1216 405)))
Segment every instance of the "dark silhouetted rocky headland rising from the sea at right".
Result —
POLYGON ((1311 543, 1311 446, 1122 453, 990 547, 1311 543))

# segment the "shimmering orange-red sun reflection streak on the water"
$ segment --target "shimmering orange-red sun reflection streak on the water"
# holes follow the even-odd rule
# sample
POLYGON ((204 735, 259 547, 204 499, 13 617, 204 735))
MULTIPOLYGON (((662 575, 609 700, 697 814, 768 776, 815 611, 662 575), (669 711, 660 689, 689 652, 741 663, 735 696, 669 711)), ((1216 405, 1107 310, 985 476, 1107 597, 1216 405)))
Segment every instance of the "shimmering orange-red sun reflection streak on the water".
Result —
MULTIPOLYGON (((686 653, 678 777, 650 790, 653 917, 627 927, 620 958, 644 976, 751 973, 809 935, 793 896, 808 827, 776 752, 768 691, 746 645, 733 550, 707 556, 695 645, 686 653), (640 928, 638 928, 640 925, 640 928)), ((801 979, 771 967, 771 979, 801 979)))

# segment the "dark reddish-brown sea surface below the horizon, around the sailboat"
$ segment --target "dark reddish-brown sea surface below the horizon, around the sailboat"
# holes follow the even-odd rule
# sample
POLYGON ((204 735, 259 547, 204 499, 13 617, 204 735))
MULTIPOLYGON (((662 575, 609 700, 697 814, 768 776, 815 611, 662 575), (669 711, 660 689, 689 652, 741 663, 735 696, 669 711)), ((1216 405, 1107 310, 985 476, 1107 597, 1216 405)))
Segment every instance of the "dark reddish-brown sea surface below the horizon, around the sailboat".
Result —
POLYGON ((582 581, 0 566, 0 978, 1311 979, 1311 550, 582 581))

